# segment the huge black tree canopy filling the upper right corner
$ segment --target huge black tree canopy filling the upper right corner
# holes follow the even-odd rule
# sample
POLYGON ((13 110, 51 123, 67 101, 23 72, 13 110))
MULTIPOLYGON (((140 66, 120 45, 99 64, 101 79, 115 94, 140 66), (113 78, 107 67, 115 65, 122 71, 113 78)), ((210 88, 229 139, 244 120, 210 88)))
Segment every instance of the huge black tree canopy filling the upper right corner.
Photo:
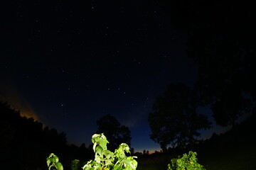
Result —
POLYGON ((254 5, 220 0, 160 3, 174 28, 188 35, 188 57, 198 64, 201 103, 211 106, 216 123, 234 125, 242 113, 250 112, 248 106, 255 105, 254 5))

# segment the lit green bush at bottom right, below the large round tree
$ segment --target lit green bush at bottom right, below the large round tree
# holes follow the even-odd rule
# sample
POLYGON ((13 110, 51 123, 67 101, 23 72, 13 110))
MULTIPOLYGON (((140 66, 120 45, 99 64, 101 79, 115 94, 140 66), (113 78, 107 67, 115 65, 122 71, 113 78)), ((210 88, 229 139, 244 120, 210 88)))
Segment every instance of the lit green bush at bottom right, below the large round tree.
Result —
POLYGON ((179 156, 178 159, 171 159, 167 170, 205 170, 201 164, 197 163, 196 152, 188 152, 179 156))

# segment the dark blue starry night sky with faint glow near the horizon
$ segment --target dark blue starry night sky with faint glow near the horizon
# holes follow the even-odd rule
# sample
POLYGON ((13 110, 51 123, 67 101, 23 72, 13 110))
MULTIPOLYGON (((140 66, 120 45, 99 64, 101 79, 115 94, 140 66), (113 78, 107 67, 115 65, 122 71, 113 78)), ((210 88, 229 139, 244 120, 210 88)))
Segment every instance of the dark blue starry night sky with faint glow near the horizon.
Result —
POLYGON ((135 151, 160 149, 149 139, 152 103, 170 83, 193 86, 197 67, 158 1, 2 6, 1 101, 78 146, 90 145, 96 120, 110 114, 131 130, 135 151))

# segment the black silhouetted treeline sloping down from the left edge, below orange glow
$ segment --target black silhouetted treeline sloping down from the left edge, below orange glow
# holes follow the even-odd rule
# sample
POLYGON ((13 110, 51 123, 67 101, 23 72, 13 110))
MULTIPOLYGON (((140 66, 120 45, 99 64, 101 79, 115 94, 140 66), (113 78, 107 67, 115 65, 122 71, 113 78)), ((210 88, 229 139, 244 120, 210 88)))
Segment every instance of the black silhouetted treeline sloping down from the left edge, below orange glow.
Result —
POLYGON ((74 159, 86 162, 93 158, 85 144, 68 145, 64 132, 22 117, 6 102, 0 102, 0 113, 0 169, 47 169, 46 157, 52 152, 65 167, 74 159))

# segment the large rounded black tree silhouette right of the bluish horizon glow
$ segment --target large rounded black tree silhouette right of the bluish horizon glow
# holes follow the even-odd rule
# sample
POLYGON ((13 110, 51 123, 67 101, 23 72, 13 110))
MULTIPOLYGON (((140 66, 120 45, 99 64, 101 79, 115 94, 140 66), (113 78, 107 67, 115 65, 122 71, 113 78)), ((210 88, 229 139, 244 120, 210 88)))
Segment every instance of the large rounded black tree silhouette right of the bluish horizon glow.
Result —
POLYGON ((184 84, 170 84, 164 95, 156 98, 153 112, 149 113, 151 139, 163 151, 167 145, 193 145, 200 136, 198 130, 210 128, 205 115, 198 114, 198 103, 193 91, 184 84))

